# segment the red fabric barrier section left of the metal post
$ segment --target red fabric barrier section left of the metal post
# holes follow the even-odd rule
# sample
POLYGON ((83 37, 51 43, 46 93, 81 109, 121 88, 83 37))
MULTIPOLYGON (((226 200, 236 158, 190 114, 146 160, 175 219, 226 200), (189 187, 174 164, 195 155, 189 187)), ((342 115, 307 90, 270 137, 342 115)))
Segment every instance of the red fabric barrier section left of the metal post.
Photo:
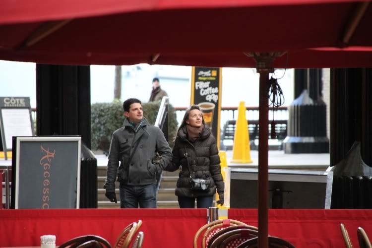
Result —
POLYGON ((143 221, 143 247, 191 247, 206 223, 206 209, 11 209, 0 210, 0 247, 40 246, 40 236, 56 235, 57 246, 94 234, 114 245, 124 227, 143 221))

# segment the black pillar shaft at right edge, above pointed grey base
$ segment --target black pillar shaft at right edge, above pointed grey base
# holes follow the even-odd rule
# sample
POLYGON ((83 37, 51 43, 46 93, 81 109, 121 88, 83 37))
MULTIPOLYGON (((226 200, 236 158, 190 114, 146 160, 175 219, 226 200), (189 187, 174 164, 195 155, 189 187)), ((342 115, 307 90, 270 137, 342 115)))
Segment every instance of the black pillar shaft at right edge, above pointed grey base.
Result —
POLYGON ((331 69, 331 166, 354 141, 361 141, 363 161, 372 165, 372 68, 331 69))

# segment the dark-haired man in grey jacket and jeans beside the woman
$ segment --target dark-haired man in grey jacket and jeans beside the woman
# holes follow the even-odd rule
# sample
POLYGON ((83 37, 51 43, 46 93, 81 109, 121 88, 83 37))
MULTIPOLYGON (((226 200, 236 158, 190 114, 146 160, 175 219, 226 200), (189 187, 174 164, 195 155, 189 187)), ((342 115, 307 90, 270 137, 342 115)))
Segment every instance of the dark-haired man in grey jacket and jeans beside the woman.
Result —
POLYGON ((129 98, 123 108, 124 125, 114 131, 111 139, 105 195, 117 202, 118 177, 121 208, 156 208, 156 174, 171 162, 172 150, 160 128, 143 117, 140 100, 129 98), (157 152, 160 156, 156 156, 157 152))

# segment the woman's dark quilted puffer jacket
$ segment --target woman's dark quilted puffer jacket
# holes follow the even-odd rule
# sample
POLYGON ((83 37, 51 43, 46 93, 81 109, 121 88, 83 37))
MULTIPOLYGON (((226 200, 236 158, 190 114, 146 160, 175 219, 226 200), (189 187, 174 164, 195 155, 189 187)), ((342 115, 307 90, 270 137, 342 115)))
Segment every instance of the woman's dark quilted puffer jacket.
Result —
POLYGON ((216 188, 219 193, 224 192, 217 142, 209 127, 204 127, 200 137, 193 143, 187 139, 186 127, 182 127, 178 132, 172 153, 172 163, 165 170, 176 171, 182 166, 180 178, 177 181, 177 196, 212 196, 216 193, 216 188), (195 171, 197 178, 210 177, 211 183, 207 190, 191 190, 186 153, 191 172, 195 171))

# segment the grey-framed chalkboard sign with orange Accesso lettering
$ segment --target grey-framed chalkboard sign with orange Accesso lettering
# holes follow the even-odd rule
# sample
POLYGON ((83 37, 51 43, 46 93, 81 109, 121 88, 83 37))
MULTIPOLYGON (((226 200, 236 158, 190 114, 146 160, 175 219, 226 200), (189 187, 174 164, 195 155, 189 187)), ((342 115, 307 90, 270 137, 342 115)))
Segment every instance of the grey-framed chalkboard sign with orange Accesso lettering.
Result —
POLYGON ((11 208, 79 208, 80 136, 13 137, 11 208))

